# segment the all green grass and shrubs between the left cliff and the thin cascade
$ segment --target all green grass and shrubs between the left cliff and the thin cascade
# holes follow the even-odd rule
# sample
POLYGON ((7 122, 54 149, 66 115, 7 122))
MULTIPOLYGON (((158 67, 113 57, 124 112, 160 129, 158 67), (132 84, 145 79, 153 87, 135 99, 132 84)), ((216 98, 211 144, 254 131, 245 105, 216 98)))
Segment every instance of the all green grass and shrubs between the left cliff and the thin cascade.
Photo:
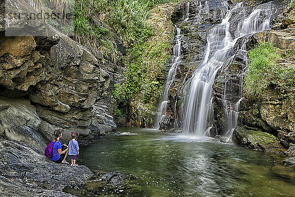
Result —
MULTIPOLYGON (((141 114, 146 120, 150 119, 163 90, 167 70, 161 66, 171 55, 174 35, 171 21, 165 18, 167 9, 172 12, 174 7, 167 5, 153 8, 178 0, 29 1, 39 6, 36 7, 39 13, 45 12, 47 1, 52 1, 59 8, 74 3, 75 41, 94 54, 102 54, 105 60, 115 64, 123 61, 126 66, 123 73, 125 81, 115 85, 113 92, 116 99, 115 114, 128 115, 140 105, 144 109, 141 114), (150 19, 152 14, 154 19, 150 19), (118 60, 113 45, 117 36, 128 48, 123 60, 118 60)), ((63 31, 66 33, 70 30, 64 28, 63 31)))

